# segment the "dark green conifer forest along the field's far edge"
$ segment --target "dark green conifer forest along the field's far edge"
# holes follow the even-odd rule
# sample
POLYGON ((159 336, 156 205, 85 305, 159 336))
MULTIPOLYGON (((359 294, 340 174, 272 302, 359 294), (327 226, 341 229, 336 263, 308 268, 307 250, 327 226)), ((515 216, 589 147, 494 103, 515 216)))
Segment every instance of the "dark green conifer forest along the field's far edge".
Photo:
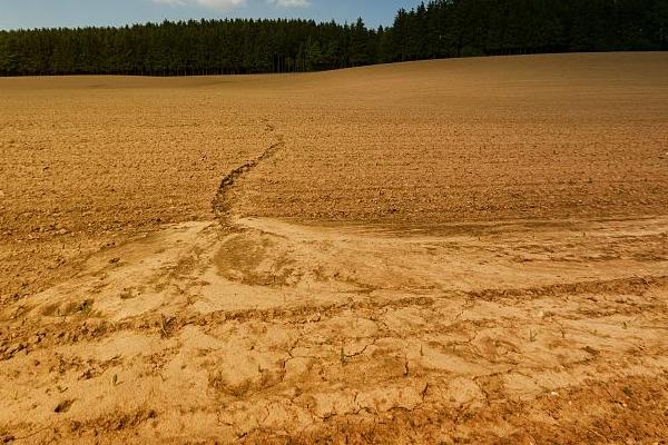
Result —
POLYGON ((449 57, 667 50, 668 0, 432 0, 369 28, 190 20, 0 31, 0 76, 316 71, 449 57))

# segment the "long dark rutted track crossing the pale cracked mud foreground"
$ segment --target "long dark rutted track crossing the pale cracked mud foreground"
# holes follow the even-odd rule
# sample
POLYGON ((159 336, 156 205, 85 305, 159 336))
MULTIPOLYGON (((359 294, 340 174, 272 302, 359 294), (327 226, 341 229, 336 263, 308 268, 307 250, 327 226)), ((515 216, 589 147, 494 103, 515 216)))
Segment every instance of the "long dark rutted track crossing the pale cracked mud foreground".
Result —
MULTIPOLYGON (((238 310, 215 310, 209 314, 176 314, 170 317, 164 317, 159 314, 154 316, 137 316, 122 322, 88 323, 86 318, 73 317, 70 320, 63 319, 59 324, 23 323, 21 326, 9 330, 0 330, 0 362, 11 359, 16 354, 23 349, 40 350, 53 347, 55 345, 72 345, 80 340, 90 340, 108 336, 114 333, 131 330, 138 333, 151 332, 159 334, 165 338, 178 335, 186 326, 217 326, 225 322, 277 322, 298 326, 312 323, 320 323, 322 319, 331 319, 345 313, 372 313, 383 314, 387 309, 404 308, 434 308, 438 309, 439 300, 461 300, 461 301, 499 301, 500 304, 519 304, 522 300, 529 301, 546 297, 577 297, 587 294, 608 294, 615 296, 636 295, 642 296, 650 290, 668 289, 668 277, 647 276, 632 277, 612 280, 580 281, 569 285, 554 285, 544 287, 533 287, 523 289, 485 289, 473 291, 450 291, 443 293, 440 297, 435 296, 407 296, 399 299, 361 300, 361 301, 337 301, 331 304, 303 304, 286 308, 268 309, 238 309, 238 310), (508 301, 503 303, 505 299, 508 301)), ((636 304, 630 313, 638 310, 662 310, 662 306, 648 307, 636 304)), ((616 314, 625 314, 619 307, 616 314)), ((595 314, 588 314, 593 317, 595 314)))

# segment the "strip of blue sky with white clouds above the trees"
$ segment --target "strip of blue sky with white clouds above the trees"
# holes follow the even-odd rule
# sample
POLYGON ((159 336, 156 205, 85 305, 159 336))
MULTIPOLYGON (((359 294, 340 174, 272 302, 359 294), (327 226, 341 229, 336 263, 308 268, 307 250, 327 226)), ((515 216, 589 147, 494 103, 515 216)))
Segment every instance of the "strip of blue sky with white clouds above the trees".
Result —
POLYGON ((0 29, 118 26, 200 18, 299 17, 390 24, 420 0, 0 0, 0 29))

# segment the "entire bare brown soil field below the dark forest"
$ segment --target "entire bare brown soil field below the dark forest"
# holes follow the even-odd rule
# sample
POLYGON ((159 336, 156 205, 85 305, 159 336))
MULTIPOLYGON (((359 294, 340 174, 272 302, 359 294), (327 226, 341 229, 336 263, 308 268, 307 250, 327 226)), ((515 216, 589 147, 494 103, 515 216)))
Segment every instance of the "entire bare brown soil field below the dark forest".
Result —
POLYGON ((0 443, 666 444, 667 73, 0 79, 0 443))

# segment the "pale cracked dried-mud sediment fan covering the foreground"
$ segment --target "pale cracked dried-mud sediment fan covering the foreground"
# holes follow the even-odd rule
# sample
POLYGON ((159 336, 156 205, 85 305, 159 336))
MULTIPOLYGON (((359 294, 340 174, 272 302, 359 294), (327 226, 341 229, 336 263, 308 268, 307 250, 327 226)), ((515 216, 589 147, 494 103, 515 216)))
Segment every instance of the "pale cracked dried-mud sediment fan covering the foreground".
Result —
POLYGON ((3 307, 0 424, 36 443, 661 441, 668 260, 638 253, 668 249, 666 222, 174 226, 3 307))

